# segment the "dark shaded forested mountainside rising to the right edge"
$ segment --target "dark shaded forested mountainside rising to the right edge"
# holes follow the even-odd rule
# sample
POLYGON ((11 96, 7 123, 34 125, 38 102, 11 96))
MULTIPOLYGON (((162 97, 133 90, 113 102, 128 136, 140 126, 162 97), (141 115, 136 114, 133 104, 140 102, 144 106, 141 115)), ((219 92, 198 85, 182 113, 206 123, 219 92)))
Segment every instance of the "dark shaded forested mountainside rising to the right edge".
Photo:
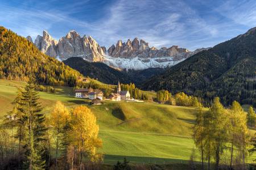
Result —
POLYGON ((145 90, 185 91, 207 103, 220 96, 256 106, 256 28, 204 50, 142 84, 145 90))

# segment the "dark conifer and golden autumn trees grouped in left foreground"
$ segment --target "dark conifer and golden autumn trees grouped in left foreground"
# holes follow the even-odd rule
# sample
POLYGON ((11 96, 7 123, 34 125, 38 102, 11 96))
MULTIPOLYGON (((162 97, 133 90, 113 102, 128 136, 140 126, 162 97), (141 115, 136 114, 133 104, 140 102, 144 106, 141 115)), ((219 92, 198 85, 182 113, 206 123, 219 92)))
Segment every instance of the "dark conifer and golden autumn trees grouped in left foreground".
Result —
POLYGON ((84 169, 84 160, 102 161, 96 116, 85 106, 69 110, 57 101, 42 112, 34 80, 18 90, 14 109, 0 129, 0 169, 84 169), (55 154, 52 150, 55 149, 55 154))

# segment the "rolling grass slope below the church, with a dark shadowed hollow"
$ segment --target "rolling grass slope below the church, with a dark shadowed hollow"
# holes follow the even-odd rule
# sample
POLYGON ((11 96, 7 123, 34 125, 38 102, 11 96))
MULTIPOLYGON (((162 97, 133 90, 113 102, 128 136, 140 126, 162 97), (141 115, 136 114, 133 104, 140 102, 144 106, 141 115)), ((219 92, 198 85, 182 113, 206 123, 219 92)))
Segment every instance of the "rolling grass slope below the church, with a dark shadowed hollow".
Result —
POLYGON ((195 108, 154 103, 106 102, 91 107, 105 129, 191 136, 195 108))

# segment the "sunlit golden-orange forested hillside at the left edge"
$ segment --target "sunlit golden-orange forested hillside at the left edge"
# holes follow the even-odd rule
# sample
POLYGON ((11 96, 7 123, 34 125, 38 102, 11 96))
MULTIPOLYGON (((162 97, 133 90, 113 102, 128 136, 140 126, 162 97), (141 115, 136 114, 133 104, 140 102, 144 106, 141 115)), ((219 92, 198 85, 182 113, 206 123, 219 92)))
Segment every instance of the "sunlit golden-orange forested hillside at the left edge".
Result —
POLYGON ((24 37, 0 27, 0 78, 27 81, 30 75, 40 84, 74 86, 80 73, 41 53, 24 37))

